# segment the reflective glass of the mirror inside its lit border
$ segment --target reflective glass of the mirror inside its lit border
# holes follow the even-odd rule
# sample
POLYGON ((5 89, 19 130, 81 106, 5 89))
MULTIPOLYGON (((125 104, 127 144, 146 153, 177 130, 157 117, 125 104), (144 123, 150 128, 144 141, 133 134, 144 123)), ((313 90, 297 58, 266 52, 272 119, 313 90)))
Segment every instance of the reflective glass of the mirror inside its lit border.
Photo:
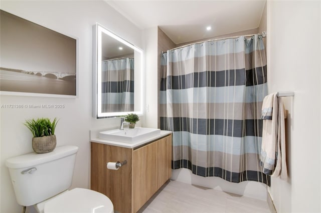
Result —
POLYGON ((134 50, 102 34, 101 112, 134 111, 134 50))

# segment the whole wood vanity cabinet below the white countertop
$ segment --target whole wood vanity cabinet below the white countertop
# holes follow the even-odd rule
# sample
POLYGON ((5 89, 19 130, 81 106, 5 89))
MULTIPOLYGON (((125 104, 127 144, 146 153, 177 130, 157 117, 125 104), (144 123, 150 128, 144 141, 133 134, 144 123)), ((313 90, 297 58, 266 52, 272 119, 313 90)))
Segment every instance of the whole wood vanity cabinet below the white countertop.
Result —
POLYGON ((137 212, 172 176, 171 161, 172 134, 134 148, 91 142, 90 187, 107 195, 114 211, 137 212), (107 162, 124 160, 107 169, 107 162))

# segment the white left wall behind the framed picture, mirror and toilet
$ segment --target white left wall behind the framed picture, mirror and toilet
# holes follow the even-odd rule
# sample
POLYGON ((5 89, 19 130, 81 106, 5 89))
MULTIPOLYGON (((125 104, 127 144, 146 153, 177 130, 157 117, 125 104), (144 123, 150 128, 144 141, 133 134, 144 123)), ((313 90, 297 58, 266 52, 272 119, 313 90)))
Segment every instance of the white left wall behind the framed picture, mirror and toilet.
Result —
MULTIPOLYGON (((1 1, 1 9, 78 39, 78 97, 1 95, 1 104, 64 104, 65 108, 1 108, 1 209, 20 212, 5 160, 32 152, 29 118, 58 117, 57 146, 79 147, 73 187, 89 188, 89 130, 119 125, 119 118, 92 118, 92 26, 97 22, 142 47, 141 30, 104 1, 1 1)), ((59 172, 59 171, 58 171, 59 172)))

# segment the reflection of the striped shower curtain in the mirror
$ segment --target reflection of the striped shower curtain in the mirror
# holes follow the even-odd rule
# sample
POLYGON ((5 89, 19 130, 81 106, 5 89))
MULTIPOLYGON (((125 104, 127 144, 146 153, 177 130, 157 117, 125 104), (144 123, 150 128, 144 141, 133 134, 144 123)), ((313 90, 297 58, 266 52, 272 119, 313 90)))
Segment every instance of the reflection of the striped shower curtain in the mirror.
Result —
POLYGON ((103 60, 102 112, 134 110, 134 58, 103 60))

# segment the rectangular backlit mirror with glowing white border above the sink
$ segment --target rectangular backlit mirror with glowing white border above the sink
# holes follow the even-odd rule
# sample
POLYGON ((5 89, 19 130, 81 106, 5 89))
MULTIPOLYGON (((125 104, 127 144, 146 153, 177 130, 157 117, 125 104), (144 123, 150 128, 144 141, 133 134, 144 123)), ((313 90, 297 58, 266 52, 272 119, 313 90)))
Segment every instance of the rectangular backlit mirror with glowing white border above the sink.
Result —
POLYGON ((93 116, 142 114, 143 51, 99 23, 93 26, 93 116))

